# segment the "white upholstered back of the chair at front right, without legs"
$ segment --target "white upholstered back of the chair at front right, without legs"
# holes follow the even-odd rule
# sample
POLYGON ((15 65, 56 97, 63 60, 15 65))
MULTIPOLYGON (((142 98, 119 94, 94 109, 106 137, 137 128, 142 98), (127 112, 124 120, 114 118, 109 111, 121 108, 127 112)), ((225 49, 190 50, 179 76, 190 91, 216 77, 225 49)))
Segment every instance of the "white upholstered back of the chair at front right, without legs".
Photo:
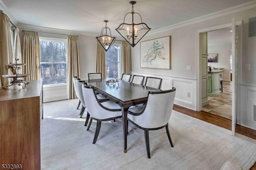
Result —
POLYGON ((146 107, 138 116, 138 125, 144 128, 159 128, 165 126, 172 114, 176 88, 166 91, 149 91, 146 107))

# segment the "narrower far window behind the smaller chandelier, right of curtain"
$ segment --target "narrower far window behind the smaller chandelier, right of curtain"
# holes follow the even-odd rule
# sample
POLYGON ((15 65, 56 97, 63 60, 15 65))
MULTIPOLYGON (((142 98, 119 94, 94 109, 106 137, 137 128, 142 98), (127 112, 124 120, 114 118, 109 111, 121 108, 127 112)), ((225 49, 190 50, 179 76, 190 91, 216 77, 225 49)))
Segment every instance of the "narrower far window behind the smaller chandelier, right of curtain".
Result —
POLYGON ((113 44, 106 52, 106 78, 121 78, 121 45, 113 44))

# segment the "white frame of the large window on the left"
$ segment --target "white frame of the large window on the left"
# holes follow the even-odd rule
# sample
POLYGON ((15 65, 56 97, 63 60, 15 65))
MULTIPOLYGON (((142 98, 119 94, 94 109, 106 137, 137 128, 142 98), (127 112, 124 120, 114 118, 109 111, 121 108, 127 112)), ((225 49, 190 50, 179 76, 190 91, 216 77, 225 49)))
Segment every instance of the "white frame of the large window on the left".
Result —
MULTIPOLYGON (((64 39, 64 38, 48 38, 48 37, 39 37, 39 42, 40 41, 51 41, 51 42, 66 42, 66 47, 68 46, 68 39, 64 39)), ((66 48, 66 62, 42 62, 43 64, 66 64, 66 67, 68 66, 68 50, 66 48)), ((41 67, 41 61, 40 61, 40 67, 41 67)), ((66 69, 66 75, 67 75, 67 79, 68 79, 68 69, 66 69)), ((41 78, 41 75, 40 75, 41 78)), ((54 87, 54 86, 63 86, 63 85, 67 85, 67 83, 56 83, 56 84, 48 84, 48 85, 43 85, 43 87, 54 87)))

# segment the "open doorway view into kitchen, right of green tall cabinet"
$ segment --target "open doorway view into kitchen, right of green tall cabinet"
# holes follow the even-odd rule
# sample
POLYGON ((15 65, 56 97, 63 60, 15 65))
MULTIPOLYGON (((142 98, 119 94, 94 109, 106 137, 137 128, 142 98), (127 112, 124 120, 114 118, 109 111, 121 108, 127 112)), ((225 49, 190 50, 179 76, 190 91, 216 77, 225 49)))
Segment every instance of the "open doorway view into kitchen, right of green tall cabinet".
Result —
POLYGON ((230 50, 231 27, 207 32, 208 95, 207 102, 202 105, 202 111, 232 120, 230 50))

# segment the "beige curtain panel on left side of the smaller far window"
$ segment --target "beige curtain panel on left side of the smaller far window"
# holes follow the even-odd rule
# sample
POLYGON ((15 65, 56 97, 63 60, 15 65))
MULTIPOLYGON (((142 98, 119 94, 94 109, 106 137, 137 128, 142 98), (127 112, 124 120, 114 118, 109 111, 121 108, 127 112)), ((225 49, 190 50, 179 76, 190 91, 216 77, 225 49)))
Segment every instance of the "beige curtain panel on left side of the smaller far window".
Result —
POLYGON ((96 73, 102 73, 102 79, 106 79, 106 51, 97 41, 96 73))

